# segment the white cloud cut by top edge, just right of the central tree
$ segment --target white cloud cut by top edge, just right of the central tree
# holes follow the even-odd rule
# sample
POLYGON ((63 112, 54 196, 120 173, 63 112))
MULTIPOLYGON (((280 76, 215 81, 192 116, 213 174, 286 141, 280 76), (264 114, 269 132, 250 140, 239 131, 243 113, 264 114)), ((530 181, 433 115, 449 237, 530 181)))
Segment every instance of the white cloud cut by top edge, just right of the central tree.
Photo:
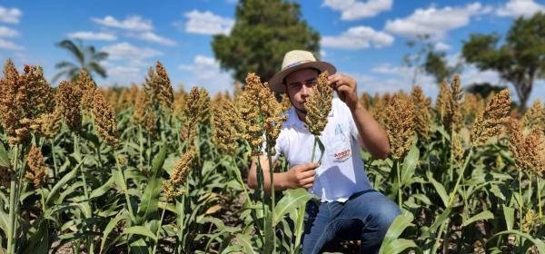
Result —
POLYGON ((341 12, 342 20, 356 20, 373 17, 383 11, 391 10, 392 0, 324 0, 322 6, 328 6, 341 12))

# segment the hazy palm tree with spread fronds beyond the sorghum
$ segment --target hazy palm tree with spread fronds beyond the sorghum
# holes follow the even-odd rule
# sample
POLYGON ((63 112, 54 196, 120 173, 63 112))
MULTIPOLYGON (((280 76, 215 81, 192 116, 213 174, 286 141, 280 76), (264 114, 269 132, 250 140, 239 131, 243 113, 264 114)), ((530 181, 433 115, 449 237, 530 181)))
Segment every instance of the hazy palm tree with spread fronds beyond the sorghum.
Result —
POLYGON ((77 63, 74 64, 69 61, 61 61, 55 64, 54 67, 56 69, 61 69, 62 71, 54 75, 52 83, 64 75, 68 76, 71 80, 74 80, 81 70, 87 71, 90 75, 98 73, 103 78, 108 76, 104 67, 99 64, 100 61, 103 61, 108 57, 108 54, 102 51, 97 52, 92 45, 84 46, 80 39, 77 39, 76 41, 77 44, 74 44, 71 40, 63 40, 56 44, 74 54, 77 63))

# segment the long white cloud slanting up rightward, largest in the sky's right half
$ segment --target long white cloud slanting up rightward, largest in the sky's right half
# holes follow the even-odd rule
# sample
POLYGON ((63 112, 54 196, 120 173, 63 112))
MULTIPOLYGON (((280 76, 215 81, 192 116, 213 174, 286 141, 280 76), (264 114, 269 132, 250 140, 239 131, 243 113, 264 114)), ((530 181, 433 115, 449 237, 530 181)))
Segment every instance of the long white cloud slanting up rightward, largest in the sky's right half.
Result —
POLYGON ((416 9, 410 16, 386 22, 385 30, 415 38, 417 35, 429 34, 433 40, 441 40, 451 29, 469 24, 472 16, 490 12, 489 6, 476 2, 463 7, 446 6, 438 9, 416 9))

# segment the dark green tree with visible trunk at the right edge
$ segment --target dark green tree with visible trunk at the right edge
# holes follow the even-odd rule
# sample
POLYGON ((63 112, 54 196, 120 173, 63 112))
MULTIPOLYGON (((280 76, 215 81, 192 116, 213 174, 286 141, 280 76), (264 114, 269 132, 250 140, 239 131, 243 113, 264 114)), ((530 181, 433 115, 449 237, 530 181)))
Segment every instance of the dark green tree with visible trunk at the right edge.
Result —
POLYGON ((493 70, 515 87, 520 112, 526 108, 535 80, 545 77, 545 15, 519 17, 510 26, 504 44, 498 34, 471 34, 462 55, 481 71, 493 70))

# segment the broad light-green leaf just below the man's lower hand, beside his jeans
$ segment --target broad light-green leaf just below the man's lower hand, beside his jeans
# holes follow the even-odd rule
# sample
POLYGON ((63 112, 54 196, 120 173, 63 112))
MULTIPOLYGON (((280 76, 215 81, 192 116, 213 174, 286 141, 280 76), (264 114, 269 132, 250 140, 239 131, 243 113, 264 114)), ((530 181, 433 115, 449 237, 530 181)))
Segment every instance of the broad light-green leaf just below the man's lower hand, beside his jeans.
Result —
POLYGON ((290 212, 290 210, 299 209, 304 207, 308 200, 312 199, 312 194, 307 190, 299 188, 292 190, 284 190, 284 196, 282 200, 278 201, 274 207, 274 219, 272 220, 272 226, 276 226, 283 216, 290 212))

